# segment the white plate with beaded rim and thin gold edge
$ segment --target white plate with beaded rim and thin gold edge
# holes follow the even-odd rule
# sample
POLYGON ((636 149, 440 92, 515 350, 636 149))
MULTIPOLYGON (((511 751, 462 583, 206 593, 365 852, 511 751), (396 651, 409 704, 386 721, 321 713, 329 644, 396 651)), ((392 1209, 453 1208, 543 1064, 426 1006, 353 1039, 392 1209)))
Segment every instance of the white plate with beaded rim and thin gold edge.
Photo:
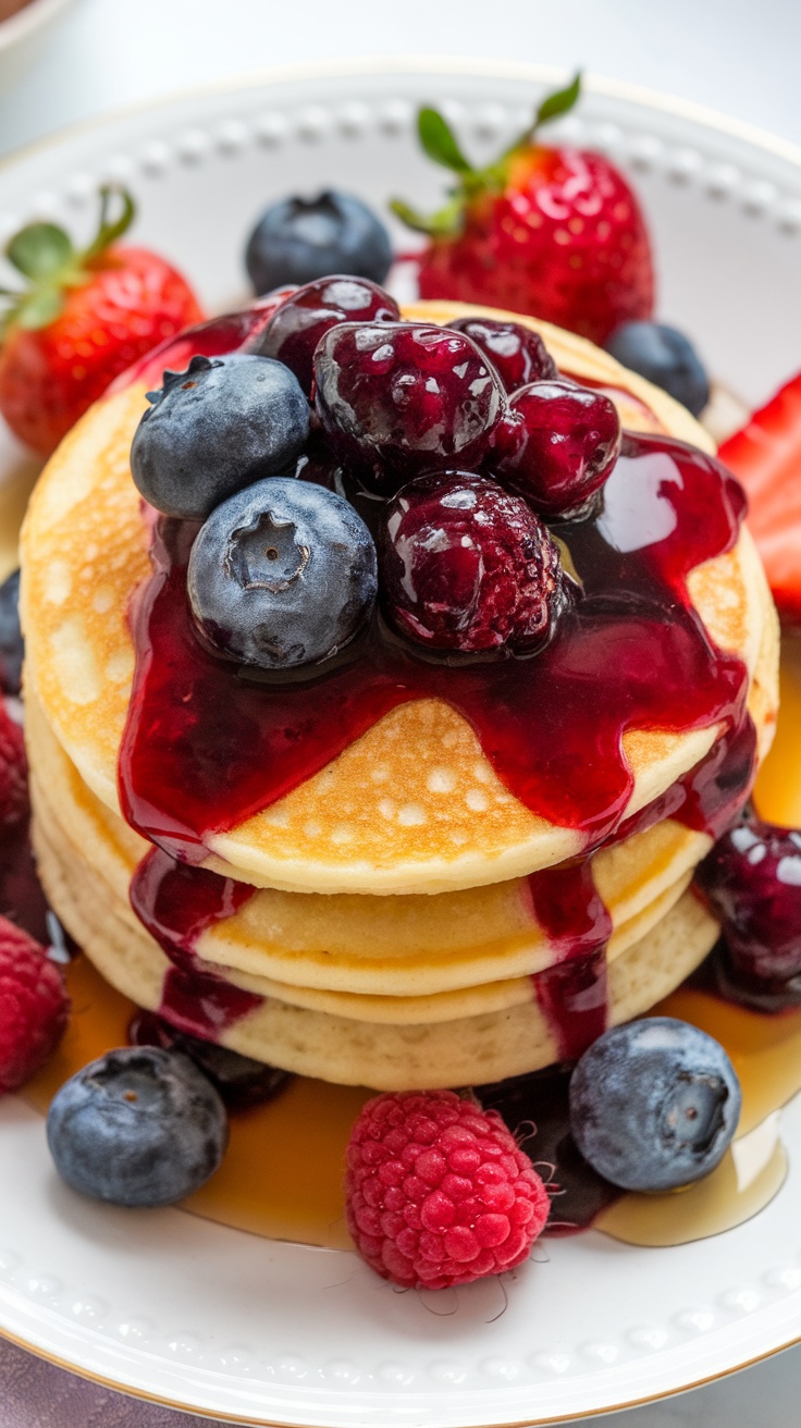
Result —
MULTIPOLYGON (((364 61, 167 100, 0 169, 0 240, 36 216, 89 233, 99 180, 123 178, 140 201, 137 240, 218 308, 244 293, 243 238, 270 197, 336 184, 377 206, 393 193, 434 204, 443 173, 417 153, 417 104, 443 104, 488 154, 554 79, 364 61)), ((764 397, 801 358, 801 153, 601 81, 561 130, 634 173, 661 313, 695 334, 718 377, 764 397)), ((0 468, 13 460, 6 438, 0 468)), ((782 1134, 787 1185, 727 1235, 660 1251, 595 1234, 551 1241, 513 1282, 417 1295, 348 1254, 83 1201, 59 1184, 41 1120, 7 1098, 0 1329, 143 1397, 257 1424, 461 1428, 641 1402, 801 1338, 801 1104, 782 1134)))

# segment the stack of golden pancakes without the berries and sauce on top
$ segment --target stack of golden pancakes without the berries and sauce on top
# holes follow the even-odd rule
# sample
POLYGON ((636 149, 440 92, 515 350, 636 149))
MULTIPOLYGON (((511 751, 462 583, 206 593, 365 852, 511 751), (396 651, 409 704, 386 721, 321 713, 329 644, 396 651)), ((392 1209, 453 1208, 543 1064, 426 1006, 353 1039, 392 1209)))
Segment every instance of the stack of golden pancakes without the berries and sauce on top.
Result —
MULTIPOLYGON (((404 316, 470 311, 427 303, 404 316)), ((627 428, 711 450, 664 393, 581 338, 525 321, 563 371, 613 396, 627 428)), ((53 907, 101 974, 244 1055, 378 1090, 498 1081, 571 1058, 678 985, 718 928, 690 887, 712 838, 675 815, 677 791, 714 763, 720 721, 628 728, 628 801, 591 847, 514 797, 448 703, 400 704, 291 793, 206 837, 186 888, 203 880, 214 918, 177 932, 156 897, 144 925, 137 887, 176 871, 121 817, 117 777, 134 674, 129 607, 150 574, 129 468, 144 406, 131 386, 79 423, 23 533, 34 847, 53 907)), ((747 668, 762 758, 778 631, 747 528, 687 588, 710 645, 747 668)))

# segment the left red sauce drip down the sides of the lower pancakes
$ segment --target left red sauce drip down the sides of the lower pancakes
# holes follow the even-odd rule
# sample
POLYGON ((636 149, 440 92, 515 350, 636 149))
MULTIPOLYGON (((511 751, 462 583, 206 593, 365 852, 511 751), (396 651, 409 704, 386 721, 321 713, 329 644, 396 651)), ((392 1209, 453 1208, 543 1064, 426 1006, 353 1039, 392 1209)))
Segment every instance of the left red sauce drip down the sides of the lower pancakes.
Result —
POLYGON ((261 1005, 261 997, 226 981, 196 952, 200 934, 233 917, 251 895, 253 888, 244 883, 187 867, 160 848, 138 864, 131 878, 131 907, 173 962, 164 977, 158 1015, 178 1031, 214 1041, 261 1005))

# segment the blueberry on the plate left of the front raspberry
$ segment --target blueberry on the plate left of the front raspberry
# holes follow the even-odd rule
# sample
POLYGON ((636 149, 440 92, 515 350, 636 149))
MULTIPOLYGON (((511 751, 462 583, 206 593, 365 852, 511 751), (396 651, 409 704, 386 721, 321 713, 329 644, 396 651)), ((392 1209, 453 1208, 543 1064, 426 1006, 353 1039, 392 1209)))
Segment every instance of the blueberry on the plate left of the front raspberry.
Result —
POLYGON ((217 1170, 226 1108, 187 1058, 158 1047, 107 1051, 57 1091, 47 1115, 56 1170, 113 1205, 171 1205, 217 1170))

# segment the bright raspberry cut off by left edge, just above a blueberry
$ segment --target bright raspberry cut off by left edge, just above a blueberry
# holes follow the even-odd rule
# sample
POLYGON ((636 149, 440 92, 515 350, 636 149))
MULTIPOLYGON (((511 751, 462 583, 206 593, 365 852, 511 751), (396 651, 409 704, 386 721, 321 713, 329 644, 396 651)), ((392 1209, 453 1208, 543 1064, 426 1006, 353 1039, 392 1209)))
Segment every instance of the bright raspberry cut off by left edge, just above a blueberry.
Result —
POLYGON ((0 1094, 16 1091, 56 1050, 70 1002, 61 971, 33 937, 0 917, 0 1094))

